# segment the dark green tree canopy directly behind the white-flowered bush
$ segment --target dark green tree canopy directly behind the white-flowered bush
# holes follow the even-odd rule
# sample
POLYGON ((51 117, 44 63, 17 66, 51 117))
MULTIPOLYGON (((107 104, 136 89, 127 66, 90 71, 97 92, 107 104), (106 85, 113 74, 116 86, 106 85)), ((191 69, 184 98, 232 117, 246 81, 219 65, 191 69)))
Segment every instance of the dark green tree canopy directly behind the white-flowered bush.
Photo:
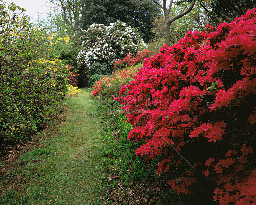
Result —
POLYGON ((86 30, 92 23, 109 26, 117 20, 138 28, 148 42, 152 38, 152 21, 161 14, 160 8, 151 0, 103 0, 94 1, 82 9, 81 27, 86 30))

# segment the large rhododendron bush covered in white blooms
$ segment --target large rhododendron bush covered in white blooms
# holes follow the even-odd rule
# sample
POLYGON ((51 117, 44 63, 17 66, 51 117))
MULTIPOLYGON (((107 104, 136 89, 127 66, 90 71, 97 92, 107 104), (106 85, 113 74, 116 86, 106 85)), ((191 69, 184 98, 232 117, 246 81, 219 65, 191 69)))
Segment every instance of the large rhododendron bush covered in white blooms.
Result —
POLYGON ((127 53, 136 54, 146 47, 138 29, 121 21, 110 26, 94 23, 84 31, 83 38, 83 49, 77 55, 77 62, 87 69, 96 62, 114 63, 126 57, 127 53))

